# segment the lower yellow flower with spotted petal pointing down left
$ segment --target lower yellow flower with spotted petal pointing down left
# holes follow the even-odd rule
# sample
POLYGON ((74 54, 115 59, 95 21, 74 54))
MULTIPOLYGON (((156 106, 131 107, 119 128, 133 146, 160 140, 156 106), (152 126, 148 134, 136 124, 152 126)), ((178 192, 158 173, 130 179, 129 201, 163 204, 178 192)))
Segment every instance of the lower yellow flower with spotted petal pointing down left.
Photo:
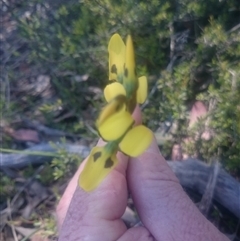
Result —
POLYGON ((143 125, 133 126, 134 119, 126 111, 126 97, 117 96, 101 111, 96 126, 100 136, 108 143, 94 147, 79 178, 85 191, 94 190, 117 163, 116 153, 137 157, 150 145, 153 134, 143 125))

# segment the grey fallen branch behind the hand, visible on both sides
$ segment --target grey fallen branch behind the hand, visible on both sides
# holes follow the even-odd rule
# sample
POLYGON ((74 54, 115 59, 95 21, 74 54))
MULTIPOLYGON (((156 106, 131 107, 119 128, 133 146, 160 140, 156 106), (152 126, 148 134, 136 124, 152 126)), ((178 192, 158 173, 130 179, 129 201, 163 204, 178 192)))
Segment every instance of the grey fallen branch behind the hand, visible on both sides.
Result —
MULTIPOLYGON (((69 153, 79 154, 85 158, 90 152, 90 148, 82 145, 58 144, 57 147, 65 149, 69 153)), ((52 156, 31 155, 31 151, 57 153, 57 148, 49 144, 39 144, 29 148, 21 154, 0 153, 1 165, 4 168, 23 168, 25 166, 42 164, 52 160, 52 156)), ((209 166, 196 159, 185 161, 168 161, 169 166, 178 177, 183 187, 192 189, 200 194, 206 192, 209 176, 213 172, 213 166, 209 166)), ((240 218, 240 183, 219 167, 216 183, 214 184, 213 199, 226 207, 236 217, 240 218)))

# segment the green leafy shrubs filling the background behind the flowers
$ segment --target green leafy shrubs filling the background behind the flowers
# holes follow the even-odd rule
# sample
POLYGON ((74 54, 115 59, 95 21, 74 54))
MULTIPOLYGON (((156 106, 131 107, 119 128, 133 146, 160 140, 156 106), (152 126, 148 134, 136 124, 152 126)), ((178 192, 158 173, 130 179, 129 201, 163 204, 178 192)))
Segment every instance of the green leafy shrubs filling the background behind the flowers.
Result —
POLYGON ((51 76, 65 106, 79 115, 86 105, 96 107, 87 88, 107 84, 108 41, 115 32, 123 37, 131 33, 138 75, 147 74, 149 89, 154 90, 144 108, 147 125, 155 131, 165 121, 176 123, 170 142, 181 143, 186 136, 196 138, 207 121, 214 138, 198 138, 186 151, 197 152, 205 161, 217 158, 230 170, 240 169, 239 0, 21 4, 28 16, 13 11, 19 33, 31 48, 28 61, 51 76), (184 33, 187 37, 181 39, 184 33), (84 74, 90 76, 88 81, 72 81, 84 74), (208 106, 209 116, 189 131, 188 113, 195 100, 208 106))

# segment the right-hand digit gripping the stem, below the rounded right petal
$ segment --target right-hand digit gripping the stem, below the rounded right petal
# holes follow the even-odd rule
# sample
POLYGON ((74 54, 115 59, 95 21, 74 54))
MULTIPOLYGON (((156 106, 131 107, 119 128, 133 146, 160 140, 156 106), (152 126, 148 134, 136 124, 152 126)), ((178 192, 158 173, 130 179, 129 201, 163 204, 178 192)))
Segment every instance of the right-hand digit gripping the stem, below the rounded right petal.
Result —
POLYGON ((141 221, 156 240, 227 240, 183 191, 155 140, 129 160, 127 179, 141 221))

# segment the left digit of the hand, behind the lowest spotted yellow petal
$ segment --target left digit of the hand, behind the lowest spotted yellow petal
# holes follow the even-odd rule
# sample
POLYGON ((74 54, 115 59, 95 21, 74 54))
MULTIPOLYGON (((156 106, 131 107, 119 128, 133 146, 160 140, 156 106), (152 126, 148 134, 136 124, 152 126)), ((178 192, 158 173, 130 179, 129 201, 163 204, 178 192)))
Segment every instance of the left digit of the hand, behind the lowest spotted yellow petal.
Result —
POLYGON ((117 240, 126 231, 120 217, 127 205, 126 168, 128 158, 118 153, 119 163, 92 192, 77 187, 59 240, 117 240))

